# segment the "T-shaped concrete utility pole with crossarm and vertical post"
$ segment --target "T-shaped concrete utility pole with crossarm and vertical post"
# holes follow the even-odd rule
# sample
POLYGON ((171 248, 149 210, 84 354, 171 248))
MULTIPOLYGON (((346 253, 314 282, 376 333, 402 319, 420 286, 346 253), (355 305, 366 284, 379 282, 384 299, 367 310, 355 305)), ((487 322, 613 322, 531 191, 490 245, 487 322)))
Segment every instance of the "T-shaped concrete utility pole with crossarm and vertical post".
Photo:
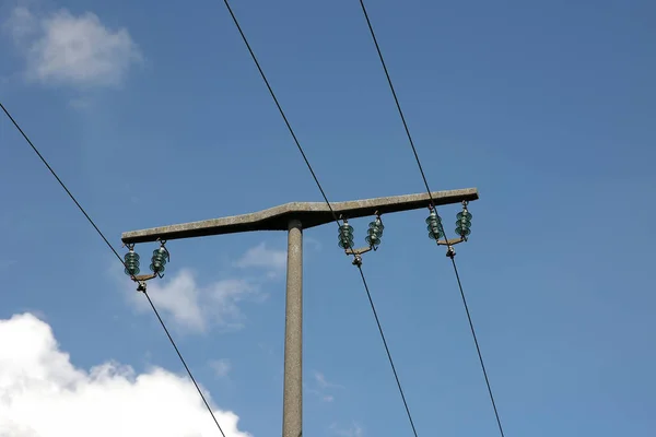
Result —
MULTIPOLYGON (((282 412, 282 436, 302 437, 303 420, 303 371, 302 371, 302 347, 303 347, 303 229, 335 222, 333 213, 338 217, 358 218, 368 215, 380 216, 383 214, 418 210, 433 205, 469 202, 478 199, 476 188, 467 188, 450 191, 435 191, 431 196, 405 194, 387 198, 366 200, 353 200, 348 202, 330 203, 332 211, 324 202, 292 202, 274 206, 268 210, 233 215, 222 218, 211 218, 201 222, 184 223, 171 226, 154 227, 150 229, 132 231, 124 233, 121 240, 130 250, 132 258, 139 257, 132 251, 133 245, 148 241, 166 241, 172 239, 204 237, 210 235, 235 234, 253 231, 286 231, 288 232, 288 267, 286 267, 286 308, 285 308, 285 333, 284 333, 284 390, 282 412)), ((436 239, 436 237, 435 237, 436 239)), ((461 239, 459 239, 461 240, 461 239)), ((452 244, 459 240, 437 241, 447 245, 449 250, 452 244)), ((345 249, 347 253, 354 255, 354 263, 362 262, 361 253, 365 249, 345 249)), ((138 290, 145 290, 145 281, 157 276, 163 271, 162 257, 167 251, 162 244, 153 255, 151 270, 153 274, 137 276, 138 290), (160 258, 156 258, 160 257, 160 258), (157 264, 160 262, 160 264, 157 264)), ((126 260, 128 258, 126 257, 126 260)), ((138 271, 137 271, 138 272, 138 271)))

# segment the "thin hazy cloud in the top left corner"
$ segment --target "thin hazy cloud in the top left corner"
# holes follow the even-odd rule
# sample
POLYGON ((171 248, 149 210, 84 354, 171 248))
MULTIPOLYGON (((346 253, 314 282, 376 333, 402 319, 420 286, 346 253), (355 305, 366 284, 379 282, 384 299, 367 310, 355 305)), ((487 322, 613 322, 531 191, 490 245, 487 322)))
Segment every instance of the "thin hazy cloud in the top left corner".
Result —
POLYGON ((26 62, 26 76, 42 83, 113 86, 142 56, 126 28, 107 28, 97 15, 66 9, 36 16, 16 7, 3 23, 26 62))

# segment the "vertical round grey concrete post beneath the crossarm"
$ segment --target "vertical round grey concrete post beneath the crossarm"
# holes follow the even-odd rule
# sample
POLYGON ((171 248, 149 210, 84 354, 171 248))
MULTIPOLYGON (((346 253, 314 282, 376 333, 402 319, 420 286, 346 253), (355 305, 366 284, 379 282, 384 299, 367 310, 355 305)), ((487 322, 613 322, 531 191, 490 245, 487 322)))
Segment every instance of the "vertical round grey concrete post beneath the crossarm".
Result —
POLYGON ((289 223, 282 437, 303 435, 303 227, 289 223))

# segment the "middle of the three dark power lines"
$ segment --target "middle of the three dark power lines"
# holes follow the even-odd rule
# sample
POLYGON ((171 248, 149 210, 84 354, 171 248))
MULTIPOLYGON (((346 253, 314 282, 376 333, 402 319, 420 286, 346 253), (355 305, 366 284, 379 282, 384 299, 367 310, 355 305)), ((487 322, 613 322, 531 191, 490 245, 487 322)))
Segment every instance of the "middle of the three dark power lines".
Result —
MULTIPOLYGON (((223 3, 225 4, 225 8, 227 9, 227 12, 230 13, 230 16, 232 17, 233 23, 235 24, 235 27, 237 27, 237 31, 239 32, 239 35, 242 36, 242 39, 244 40, 244 44, 246 45, 246 48, 248 49, 248 52, 250 54, 250 58, 255 62, 255 66, 257 67, 257 70, 259 71, 260 76, 262 78, 262 81, 267 85, 267 90, 269 90, 269 94, 271 95, 271 98, 273 98, 273 102, 276 103, 276 107, 278 108, 278 111, 280 113, 280 116, 282 117, 282 119, 283 119, 283 121, 284 121, 288 130, 290 131, 290 134, 292 135, 292 139, 294 140, 294 143, 296 144, 296 147, 298 149, 298 152, 301 152, 301 155, 303 156, 303 161, 305 161, 305 165, 307 166, 309 173, 312 174, 312 177, 314 178, 315 184, 319 188, 319 191, 321 192, 321 196, 324 197, 324 200, 328 204, 328 208, 330 209, 330 212, 332 213, 332 217, 335 218, 335 222, 337 222, 337 225, 340 226, 339 217, 337 216, 337 214, 332 210, 332 206, 330 205, 330 202, 328 201, 328 197, 326 196, 326 191, 321 187, 321 184, 319 182, 319 179, 318 179, 316 173, 314 172, 312 165, 309 164, 309 160, 305 155, 305 152, 304 152, 303 147, 301 146, 301 142, 298 141, 298 138, 294 133, 294 129, 292 128, 292 125, 290 123, 286 115, 284 114, 284 110, 282 109, 282 106, 280 105, 280 102, 278 101, 278 97, 276 96, 276 93, 273 92, 273 88, 271 87, 271 84, 269 83, 269 80, 267 79, 267 75, 265 74, 265 72, 263 72, 263 70, 262 70, 262 68, 261 68, 261 66, 260 66, 260 63, 259 63, 259 61, 257 59, 257 56, 255 55, 255 51, 253 51, 253 48, 250 47, 250 44, 248 43, 248 39, 246 38, 246 35, 244 34, 244 31, 242 29, 242 26, 239 25, 239 22, 237 21, 237 17, 236 17, 235 13, 233 12, 233 10, 232 10, 232 8, 230 5, 230 2, 227 0, 223 0, 223 3)), ((430 191, 429 191, 429 196, 431 197, 431 203, 433 203, 433 198, 432 198, 430 191)), ((352 248, 348 248, 348 249, 352 249, 352 248)), ((399 393, 401 394, 401 400, 403 401, 403 406, 406 408, 406 413, 408 415, 408 420, 410 421, 410 425, 412 426, 412 432, 414 434, 414 437, 418 437, 417 429, 414 427, 414 422, 412 421, 412 415, 410 414, 410 409, 408 408, 408 402, 406 401, 406 395, 403 393, 403 389, 401 387, 401 382, 400 382, 398 373, 396 370, 396 366, 394 365, 394 359, 391 358, 391 353, 389 352, 389 347, 387 345, 387 340, 385 339, 385 333, 383 332, 383 327, 382 327, 380 321, 378 319, 378 315, 376 312, 376 307, 374 305, 374 300, 373 300, 372 295, 370 293, 368 285, 366 283, 365 276, 364 276, 364 272, 362 270, 362 265, 358 264, 358 269, 360 271, 360 276, 362 277, 362 283, 363 283, 364 288, 366 291, 366 295, 367 295, 367 298, 368 298, 372 311, 374 314, 374 318, 375 318, 376 324, 378 327, 378 332, 380 333, 380 338, 382 338, 383 344, 385 346, 385 352, 387 353, 387 358, 389 359, 389 364, 391 366, 391 370, 394 373, 394 377, 396 379, 396 382, 397 382, 397 386, 398 386, 398 389, 399 389, 399 393)))

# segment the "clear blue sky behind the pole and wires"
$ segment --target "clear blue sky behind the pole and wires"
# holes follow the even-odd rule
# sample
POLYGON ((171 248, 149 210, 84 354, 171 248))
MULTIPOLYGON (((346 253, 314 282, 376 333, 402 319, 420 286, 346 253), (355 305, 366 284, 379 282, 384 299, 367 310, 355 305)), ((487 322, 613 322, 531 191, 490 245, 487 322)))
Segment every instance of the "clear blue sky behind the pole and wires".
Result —
MULTIPOLYGON (((233 8, 330 200, 423 190, 356 1, 233 8)), ((480 190, 457 262, 506 435, 653 434, 656 5, 368 8, 431 188, 480 190)), ((321 200, 222 2, 34 0, 0 17, 1 102, 117 247, 125 231, 321 200)), ((4 117, 0 144, 0 319, 38 315, 80 369, 180 374, 4 117)), ((449 232, 457 211, 440 210, 449 232)), ((419 434, 494 435, 426 214, 385 216, 363 269, 419 434)), ((359 241, 366 223, 352 222, 359 241)), ((305 433, 409 435, 335 227, 305 236, 305 433)), ((151 294, 192 371, 241 430, 280 433, 285 235, 168 248, 151 294)))

